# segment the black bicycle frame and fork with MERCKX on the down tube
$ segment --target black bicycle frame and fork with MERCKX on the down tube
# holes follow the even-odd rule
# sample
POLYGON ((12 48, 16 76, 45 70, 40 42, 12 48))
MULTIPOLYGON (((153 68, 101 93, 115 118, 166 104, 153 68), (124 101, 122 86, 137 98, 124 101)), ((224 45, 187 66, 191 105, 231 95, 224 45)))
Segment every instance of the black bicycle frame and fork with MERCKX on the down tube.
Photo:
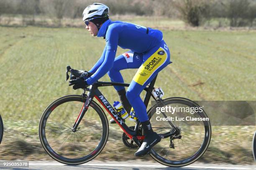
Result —
MULTIPOLYGON (((148 102, 150 100, 150 97, 152 95, 152 91, 154 89, 154 84, 156 82, 156 77, 157 77, 157 74, 156 74, 155 78, 151 81, 149 86, 144 89, 146 91, 146 96, 145 96, 143 102, 144 102, 146 108, 148 107, 148 102)), ((98 89, 98 87, 102 87, 102 86, 124 86, 124 87, 128 87, 129 85, 130 84, 118 83, 118 82, 102 82, 102 81, 97 81, 94 84, 92 84, 92 87, 91 87, 89 93, 87 94, 87 99, 84 102, 84 105, 83 105, 83 107, 82 107, 82 109, 79 113, 79 116, 77 117, 76 122, 74 123, 72 131, 73 132, 77 131, 77 127, 78 127, 79 123, 81 122, 82 118, 84 117, 84 114, 88 110, 88 107, 90 106, 90 102, 95 97, 100 102, 100 104, 102 104, 102 106, 107 110, 107 112, 115 120, 115 122, 120 126, 120 128, 123 130, 123 132, 125 132, 125 134, 130 139, 133 139, 133 141, 138 146, 140 146, 140 143, 138 142, 138 140, 143 140, 144 139, 144 136, 137 136, 138 127, 140 125, 140 122, 137 120, 135 129, 134 130, 130 129, 125 124, 125 122, 120 117, 120 115, 117 114, 117 112, 115 112, 115 109, 112 107, 112 105, 107 101, 107 99, 103 96, 103 94, 98 89)), ((166 138, 166 137, 170 137, 173 134, 174 133, 169 132, 169 133, 161 134, 160 136, 161 136, 161 138, 166 138)))

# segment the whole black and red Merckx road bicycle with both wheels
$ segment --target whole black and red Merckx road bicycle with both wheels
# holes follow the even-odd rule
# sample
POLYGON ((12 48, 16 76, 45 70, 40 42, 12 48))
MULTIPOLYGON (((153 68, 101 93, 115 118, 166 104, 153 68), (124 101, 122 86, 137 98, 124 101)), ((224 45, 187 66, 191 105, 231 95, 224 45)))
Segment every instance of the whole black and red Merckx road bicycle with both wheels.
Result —
MULTIPOLYGON (((67 80, 70 69, 71 67, 67 66, 67 80)), ((85 73, 88 76, 88 73, 85 73)), ((189 165, 198 160, 210 144, 212 133, 210 121, 197 121, 193 124, 182 121, 158 121, 158 119, 169 117, 169 112, 160 111, 159 114, 158 108, 169 106, 195 108, 200 106, 194 101, 182 97, 162 99, 164 93, 161 88, 154 88, 156 77, 144 89, 146 95, 143 102, 148 107, 150 98, 154 99, 151 101, 152 106, 148 109, 147 114, 154 132, 159 134, 162 140, 151 149, 149 155, 166 166, 189 165)), ((125 146, 130 149, 141 146, 144 133, 140 122, 137 121, 135 126, 131 127, 125 124, 125 120, 100 92, 100 88, 106 86, 128 87, 129 84, 97 81, 90 88, 84 88, 82 95, 63 96, 53 101, 44 110, 39 123, 39 137, 44 150, 54 160, 67 165, 79 165, 89 162, 100 154, 109 135, 108 119, 102 108, 123 130, 122 141, 125 146), (85 94, 87 91, 88 93, 85 94)), ((207 118, 204 110, 195 112, 192 116, 207 118)), ((115 148, 119 145, 115 140, 110 142, 115 148)), ((122 152, 120 154, 123 155, 122 152)))

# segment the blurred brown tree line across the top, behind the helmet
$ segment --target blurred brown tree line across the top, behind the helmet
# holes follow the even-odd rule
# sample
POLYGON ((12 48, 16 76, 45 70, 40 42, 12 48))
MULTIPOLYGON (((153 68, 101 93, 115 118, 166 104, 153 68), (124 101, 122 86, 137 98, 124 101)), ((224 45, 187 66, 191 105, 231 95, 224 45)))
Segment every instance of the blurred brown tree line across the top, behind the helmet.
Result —
MULTIPOLYGON (((232 27, 253 26, 256 0, 96 0, 110 8, 111 15, 147 15, 180 18, 192 26, 207 20, 226 18, 232 27)), ((95 0, 0 0, 1 15, 21 15, 26 24, 35 17, 81 18, 87 5, 95 0), (28 20, 28 18, 30 18, 28 20)))

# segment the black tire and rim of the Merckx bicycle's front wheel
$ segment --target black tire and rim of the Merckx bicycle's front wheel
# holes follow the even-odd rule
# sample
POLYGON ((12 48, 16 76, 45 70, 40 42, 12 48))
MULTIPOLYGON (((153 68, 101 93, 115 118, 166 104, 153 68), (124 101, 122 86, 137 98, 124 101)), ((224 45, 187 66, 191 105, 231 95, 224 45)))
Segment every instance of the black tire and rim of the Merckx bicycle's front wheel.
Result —
MULTIPOLYGON (((92 159, 94 159, 97 155, 100 154, 100 152, 103 150, 103 148, 105 147, 106 143, 107 143, 107 140, 108 140, 108 133, 109 133, 109 127, 108 127, 108 119, 105 115, 105 113, 103 112, 103 110, 101 109, 101 107, 95 102, 92 100, 91 104, 90 104, 90 107, 88 109, 88 111, 90 111, 90 109, 94 109, 94 110, 91 110, 96 116, 99 116, 100 117, 100 120, 99 122, 101 122, 101 124, 99 122, 97 122, 98 124, 100 124, 102 127, 101 127, 101 130, 102 130, 102 136, 99 138, 100 139, 100 142, 99 144, 94 148, 92 152, 90 151, 90 154, 87 154, 83 157, 78 157, 78 158, 69 158, 68 156, 64 157, 62 155, 65 155, 65 154, 58 154, 56 153, 52 148, 51 148, 51 145, 49 145, 49 142, 47 141, 46 139, 46 124, 47 124, 47 119, 49 118, 51 112, 57 108, 57 107, 60 107, 61 104, 70 104, 72 103, 71 101, 73 102, 82 102, 84 103, 85 100, 82 99, 82 96, 79 96, 79 95, 69 95, 69 96, 64 96, 64 97, 61 97, 57 100, 55 100, 54 102, 52 102, 44 111, 42 117, 41 117, 41 120, 40 120, 40 123, 39 123, 39 138, 40 138, 40 141, 41 141, 41 144, 42 146, 44 147, 44 150, 47 152, 48 155, 50 155, 54 160, 58 161, 58 162, 61 162, 61 163, 64 163, 64 164, 67 164, 67 165, 79 165, 79 164, 83 164, 85 162, 88 162, 92 159), (69 103, 67 103, 69 102, 69 103)), ((58 110, 58 109, 57 109, 58 110)), ((79 110, 80 111, 80 110, 79 110)), ((88 112, 87 111, 87 112, 88 112)), ((57 112, 59 114, 59 112, 57 112)), ((86 115, 86 114, 85 114, 86 115)), ((84 117, 85 117, 84 115, 84 117)), ((59 115, 61 117, 61 114, 59 115)), ((85 118, 83 118, 85 119, 85 118)), ((51 122, 51 120, 49 119, 49 121, 51 122)), ((80 122, 80 124, 82 124, 82 122, 80 122)), ((79 126, 80 126, 79 124, 79 126)), ((90 119, 88 120, 88 124, 91 125, 92 124, 92 127, 95 126, 95 124, 93 124, 92 122, 90 122, 90 119)), ((50 126, 51 127, 51 126, 50 126)), ((82 128, 81 128, 82 129, 82 128)), ((69 129, 68 129, 69 130, 69 129)), ((71 130, 72 131, 72 130, 71 130)), ((92 129, 87 129, 87 132, 92 132, 93 130, 92 129)), ((87 134, 87 133, 84 133, 84 134, 87 134)), ((80 136, 80 135, 79 135, 80 136)), ((49 135, 48 135, 49 137, 49 135)), ((91 136, 89 136, 91 137, 91 136)), ((85 137, 86 138, 86 137, 85 137)), ((65 138, 64 138, 65 139, 65 138)), ((93 140, 90 139, 89 142, 92 142, 93 140)), ((87 146, 87 144, 89 142, 82 142, 82 144, 84 146, 87 146)), ((62 149, 62 148, 61 148, 62 149)), ((82 152, 83 154, 83 152, 82 152)))

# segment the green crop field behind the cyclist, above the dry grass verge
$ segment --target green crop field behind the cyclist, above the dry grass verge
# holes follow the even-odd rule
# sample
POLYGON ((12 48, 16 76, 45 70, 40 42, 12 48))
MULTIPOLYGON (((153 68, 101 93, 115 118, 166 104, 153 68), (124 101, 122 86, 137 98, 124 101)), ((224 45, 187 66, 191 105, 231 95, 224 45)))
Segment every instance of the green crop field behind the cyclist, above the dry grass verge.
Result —
MULTIPOLYGON (((0 113, 9 120, 38 119, 55 98, 80 94, 65 83, 66 66, 89 70, 105 46, 103 38, 79 28, 0 27, 0 32, 0 113)), ((156 86, 166 96, 256 99, 256 32, 164 31, 164 40, 173 63, 156 86)), ((118 48, 117 55, 123 52, 118 48)), ((135 72, 121 71, 126 83, 135 72)), ((110 81, 108 75, 101 80, 110 81)), ((102 91, 110 101, 118 99, 113 87, 102 91)))

